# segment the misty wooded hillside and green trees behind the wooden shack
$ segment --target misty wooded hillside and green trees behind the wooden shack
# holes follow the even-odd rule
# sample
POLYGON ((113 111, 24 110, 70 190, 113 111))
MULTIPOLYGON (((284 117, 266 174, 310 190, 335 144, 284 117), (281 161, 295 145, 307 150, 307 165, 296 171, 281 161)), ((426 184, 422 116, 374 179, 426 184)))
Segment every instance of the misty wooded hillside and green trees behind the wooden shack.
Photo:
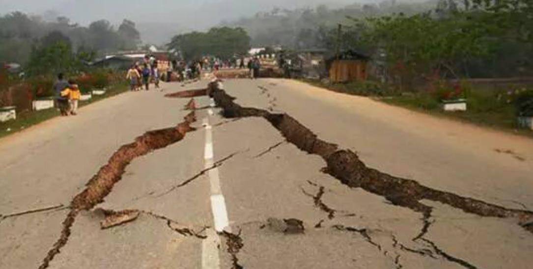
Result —
POLYGON ((253 45, 334 52, 338 23, 341 49, 367 54, 402 83, 532 75, 530 0, 389 0, 342 9, 322 5, 274 9, 224 24, 246 29, 253 45))

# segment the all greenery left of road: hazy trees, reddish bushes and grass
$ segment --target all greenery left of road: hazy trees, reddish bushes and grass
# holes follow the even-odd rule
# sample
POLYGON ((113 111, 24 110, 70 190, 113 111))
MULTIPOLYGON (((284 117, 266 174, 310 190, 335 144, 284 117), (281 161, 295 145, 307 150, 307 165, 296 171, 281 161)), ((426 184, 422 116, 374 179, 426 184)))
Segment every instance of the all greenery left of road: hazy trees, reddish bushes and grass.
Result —
POLYGON ((124 20, 115 29, 100 20, 82 27, 66 17, 44 21, 13 12, 0 17, 0 60, 20 64, 18 70, 0 66, 0 107, 16 108, 16 120, 0 122, 0 137, 59 116, 56 108, 35 111, 33 101, 54 99, 53 85, 59 73, 74 80, 91 99, 80 106, 127 90, 125 74, 93 68, 88 63, 109 51, 133 50, 140 44, 135 23, 124 20), (104 90, 104 94, 92 94, 104 90))

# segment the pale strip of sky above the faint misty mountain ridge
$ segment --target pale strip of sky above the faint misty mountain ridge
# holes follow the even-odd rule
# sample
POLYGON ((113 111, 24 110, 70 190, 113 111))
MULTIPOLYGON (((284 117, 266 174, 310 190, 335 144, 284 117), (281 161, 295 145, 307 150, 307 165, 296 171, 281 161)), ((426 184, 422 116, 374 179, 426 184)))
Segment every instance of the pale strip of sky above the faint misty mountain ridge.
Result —
MULTIPOLYGON (((350 4, 357 0, 0 0, 0 12, 43 14, 57 11, 82 24, 98 19, 172 22, 199 18, 209 22, 238 18, 279 7, 350 4), (127 3, 127 4, 126 4, 127 3), (181 17, 181 18, 180 18, 181 17)), ((363 0, 372 1, 372 0, 363 0)), ((361 1, 359 1, 361 2, 361 1)))

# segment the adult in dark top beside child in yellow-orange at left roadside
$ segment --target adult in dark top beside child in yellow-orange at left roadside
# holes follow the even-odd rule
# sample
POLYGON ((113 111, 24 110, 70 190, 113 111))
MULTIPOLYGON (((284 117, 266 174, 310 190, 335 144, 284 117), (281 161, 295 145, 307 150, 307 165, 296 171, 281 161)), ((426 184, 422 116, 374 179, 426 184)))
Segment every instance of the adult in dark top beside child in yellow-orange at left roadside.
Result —
POLYGON ((58 81, 54 84, 56 95, 56 107, 59 108, 62 116, 77 115, 78 102, 82 97, 82 93, 78 88, 78 84, 74 80, 66 80, 64 75, 58 75, 58 81))

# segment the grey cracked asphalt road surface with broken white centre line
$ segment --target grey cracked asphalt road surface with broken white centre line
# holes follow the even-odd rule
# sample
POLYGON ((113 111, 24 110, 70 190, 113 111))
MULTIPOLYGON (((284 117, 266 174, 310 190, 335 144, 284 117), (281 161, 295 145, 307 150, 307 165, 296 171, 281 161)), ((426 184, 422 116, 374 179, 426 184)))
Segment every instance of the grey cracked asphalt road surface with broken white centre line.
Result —
MULTIPOLYGON (((9 153, 0 155, 0 268, 528 268, 533 263, 528 213, 523 219, 482 217, 421 200, 431 208, 424 215, 395 205, 396 199, 324 173, 324 159, 289 143, 265 118, 224 118, 223 108, 213 108, 205 96, 195 97, 202 108, 191 123, 196 131, 135 157, 124 171, 114 170, 120 180, 103 202, 77 212, 65 234, 72 199, 120 147, 143 133, 172 128, 190 113, 183 110, 190 97, 165 94, 206 84, 125 93, 82 108, 76 118, 55 118, 0 140, 0 151, 9 153), (224 198, 224 231, 216 231, 222 211, 214 196, 224 198), (106 210, 140 214, 102 230, 106 210), (62 239, 59 253, 44 263, 62 239)), ((294 81, 228 80, 223 88, 236 104, 286 113, 380 172, 505 210, 533 209, 530 139, 294 81)))

